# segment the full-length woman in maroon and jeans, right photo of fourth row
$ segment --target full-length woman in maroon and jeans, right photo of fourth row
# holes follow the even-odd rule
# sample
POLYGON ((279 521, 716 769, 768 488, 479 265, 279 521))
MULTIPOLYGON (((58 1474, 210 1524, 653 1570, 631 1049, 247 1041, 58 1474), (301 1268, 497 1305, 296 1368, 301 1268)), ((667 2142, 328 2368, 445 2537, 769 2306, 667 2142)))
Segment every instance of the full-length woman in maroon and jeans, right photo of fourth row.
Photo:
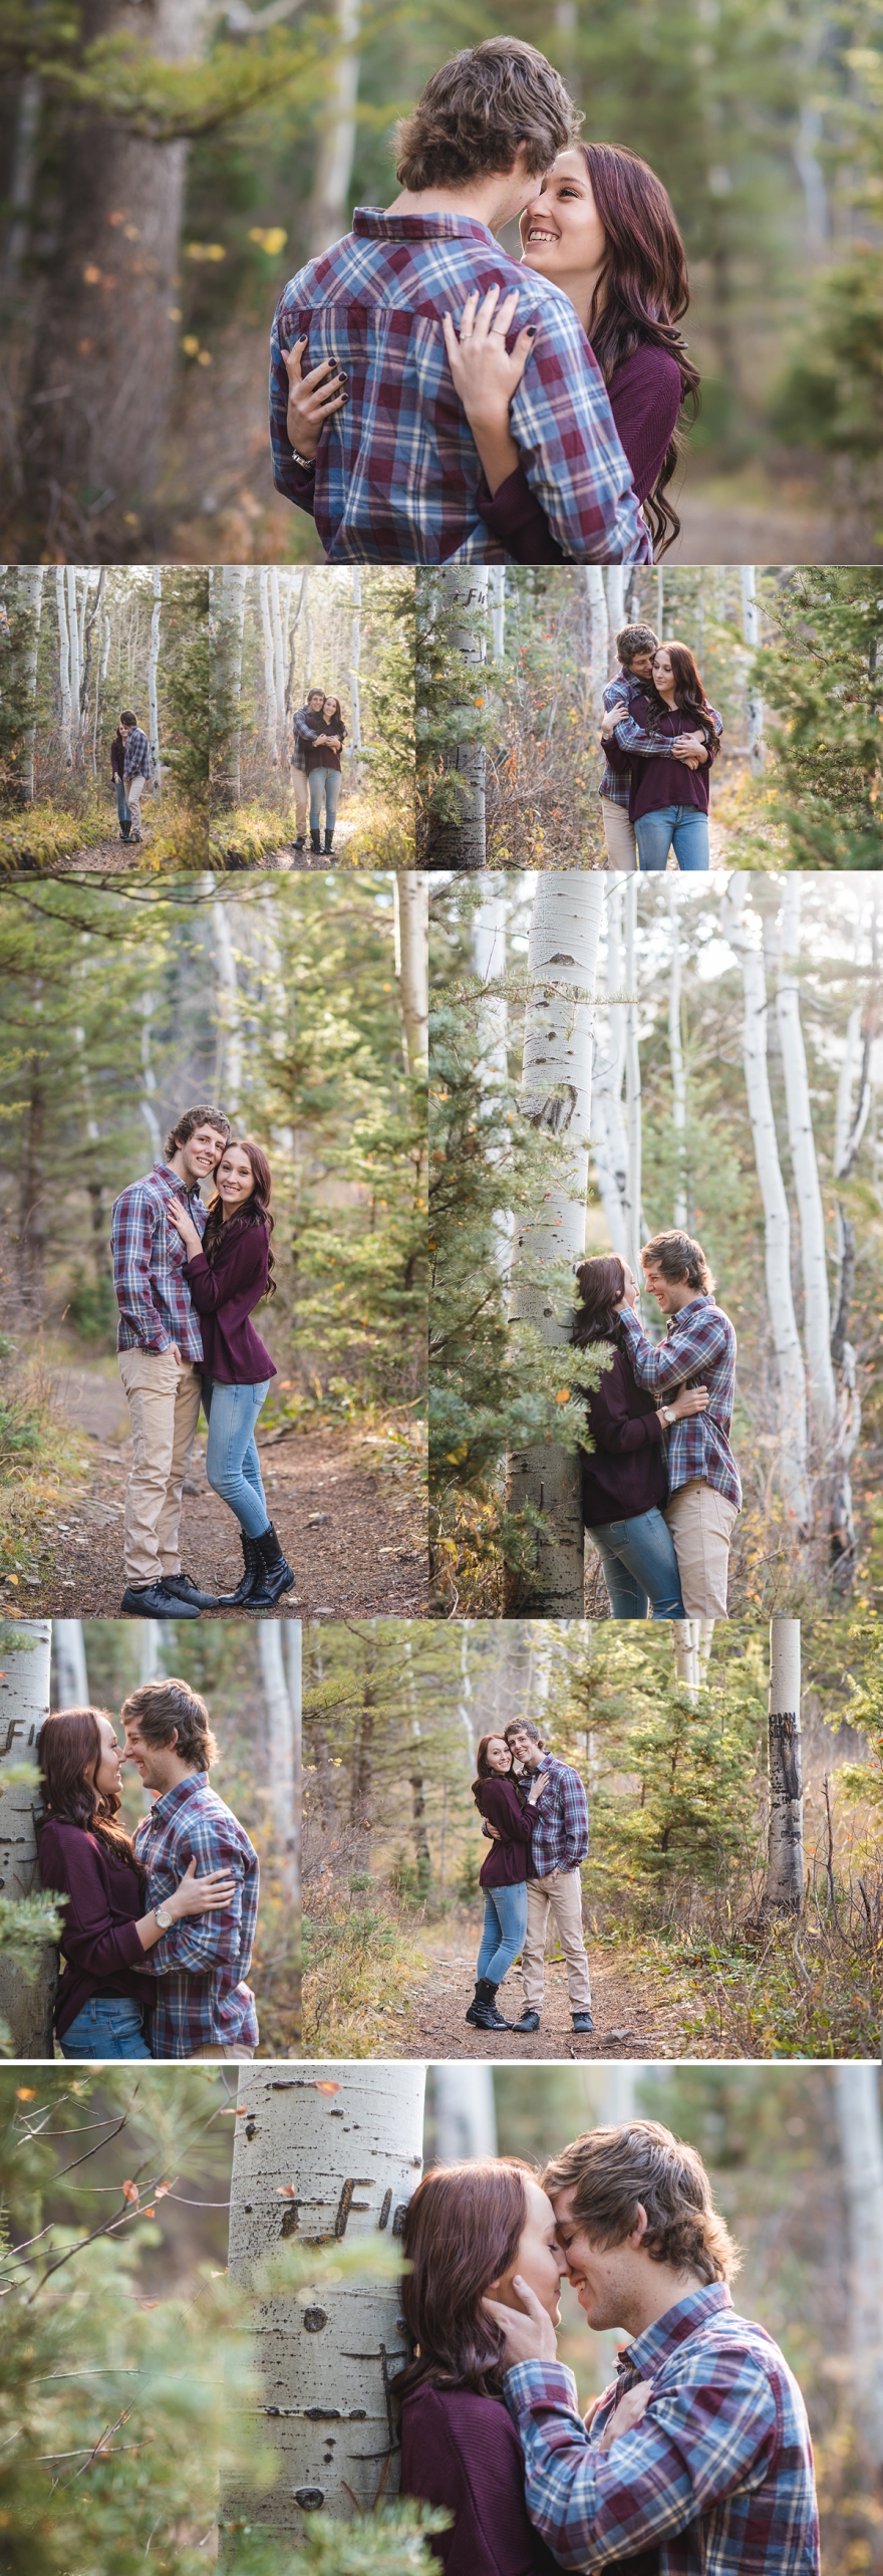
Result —
POLYGON ((466 2022, 474 2022, 476 2030, 512 2030, 512 2022, 505 2022, 502 2012, 497 2012, 497 1986, 502 1986, 528 1932, 530 1834, 543 1788, 546 1777, 535 1772, 530 1798, 523 1806, 507 1739, 481 1736, 471 1795, 479 1816, 492 1826, 492 1847, 479 1870, 484 1932, 476 1958, 476 1991, 466 2012, 466 2022))

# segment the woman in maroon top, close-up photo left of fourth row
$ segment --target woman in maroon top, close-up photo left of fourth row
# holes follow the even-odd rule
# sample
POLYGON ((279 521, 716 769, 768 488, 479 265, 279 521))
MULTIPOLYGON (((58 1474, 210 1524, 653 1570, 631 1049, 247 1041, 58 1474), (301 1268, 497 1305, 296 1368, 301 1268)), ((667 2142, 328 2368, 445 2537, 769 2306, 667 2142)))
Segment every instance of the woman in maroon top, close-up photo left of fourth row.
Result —
POLYGON ((106 1708, 64 1708, 39 1739, 44 1814, 39 1821, 41 1888, 64 1899, 64 1971, 54 1999, 62 2058, 149 2058, 144 2025, 154 1981, 144 1953, 183 1914, 229 1906, 224 1870, 196 1878, 196 1860, 144 1914, 144 1875, 121 1808, 121 1752, 106 1708))

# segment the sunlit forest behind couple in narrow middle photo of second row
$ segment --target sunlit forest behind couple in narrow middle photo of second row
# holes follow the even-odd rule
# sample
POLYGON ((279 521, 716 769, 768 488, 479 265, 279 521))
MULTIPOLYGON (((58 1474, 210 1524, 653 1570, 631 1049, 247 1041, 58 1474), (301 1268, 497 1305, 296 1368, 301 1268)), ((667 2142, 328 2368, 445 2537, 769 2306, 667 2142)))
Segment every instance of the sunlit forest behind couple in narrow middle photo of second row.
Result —
MULTIPOLYGON (((211 855, 293 842, 291 716, 309 688, 348 729, 337 866, 414 855, 414 574, 358 564, 211 572, 211 855)), ((306 860, 299 860, 309 866, 306 860)), ((317 863, 314 863, 317 866, 317 863)))

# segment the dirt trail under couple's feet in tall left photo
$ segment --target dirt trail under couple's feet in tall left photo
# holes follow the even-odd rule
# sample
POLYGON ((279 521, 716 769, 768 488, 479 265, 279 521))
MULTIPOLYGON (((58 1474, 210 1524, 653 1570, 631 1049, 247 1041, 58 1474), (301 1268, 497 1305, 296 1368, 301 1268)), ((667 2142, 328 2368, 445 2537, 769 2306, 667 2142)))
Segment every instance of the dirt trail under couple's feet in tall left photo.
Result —
MULTIPOLYGON (((54 1401, 88 1435, 95 1466, 85 1492, 57 1507, 51 1520, 46 1515, 41 1566, 28 1566, 15 1602, 33 1618, 116 1618, 131 1466, 116 1360, 70 1363, 54 1381, 54 1401)), ((275 1618, 425 1615, 425 1515, 412 1476, 376 1476, 371 1448, 350 1432, 270 1435, 260 1443, 260 1471, 270 1517, 296 1569, 296 1589, 283 1595, 275 1618)), ((242 1574, 239 1530, 206 1484, 206 1430, 196 1437, 183 1492, 183 1566, 201 1589, 229 1592, 242 1574)), ((13 1589, 3 1600, 8 1605, 13 1589)), ((242 1618, 242 1610, 203 1615, 242 1618)))

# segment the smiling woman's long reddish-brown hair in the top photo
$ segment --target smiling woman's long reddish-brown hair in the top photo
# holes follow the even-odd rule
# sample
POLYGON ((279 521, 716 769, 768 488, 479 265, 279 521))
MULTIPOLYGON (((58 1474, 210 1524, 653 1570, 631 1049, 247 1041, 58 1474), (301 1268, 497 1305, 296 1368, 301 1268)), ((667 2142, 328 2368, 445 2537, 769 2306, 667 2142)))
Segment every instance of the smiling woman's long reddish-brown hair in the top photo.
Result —
MULTIPOLYGON (((664 348, 680 368, 680 399, 690 402, 690 420, 700 407, 700 376, 687 355, 680 322, 690 307, 687 252, 677 229, 674 206, 662 178, 623 144, 579 142, 592 180, 592 196, 605 227, 608 258, 595 286, 587 335, 605 384, 636 348, 664 348), (602 299, 602 301, 600 301, 602 299)), ((644 515, 659 562, 674 536, 680 518, 667 500, 680 461, 680 435, 662 459, 654 489, 644 502, 644 515)))

